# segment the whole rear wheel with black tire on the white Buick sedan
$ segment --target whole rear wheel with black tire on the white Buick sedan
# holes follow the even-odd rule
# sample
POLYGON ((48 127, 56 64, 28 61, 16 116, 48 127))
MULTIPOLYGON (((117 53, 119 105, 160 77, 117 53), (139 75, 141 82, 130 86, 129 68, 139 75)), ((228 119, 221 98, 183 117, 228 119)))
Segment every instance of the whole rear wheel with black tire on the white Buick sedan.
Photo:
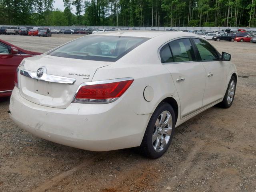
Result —
POLYGON ((172 106, 166 102, 160 103, 148 122, 140 144, 142 155, 153 159, 161 157, 172 142, 175 124, 172 106))

